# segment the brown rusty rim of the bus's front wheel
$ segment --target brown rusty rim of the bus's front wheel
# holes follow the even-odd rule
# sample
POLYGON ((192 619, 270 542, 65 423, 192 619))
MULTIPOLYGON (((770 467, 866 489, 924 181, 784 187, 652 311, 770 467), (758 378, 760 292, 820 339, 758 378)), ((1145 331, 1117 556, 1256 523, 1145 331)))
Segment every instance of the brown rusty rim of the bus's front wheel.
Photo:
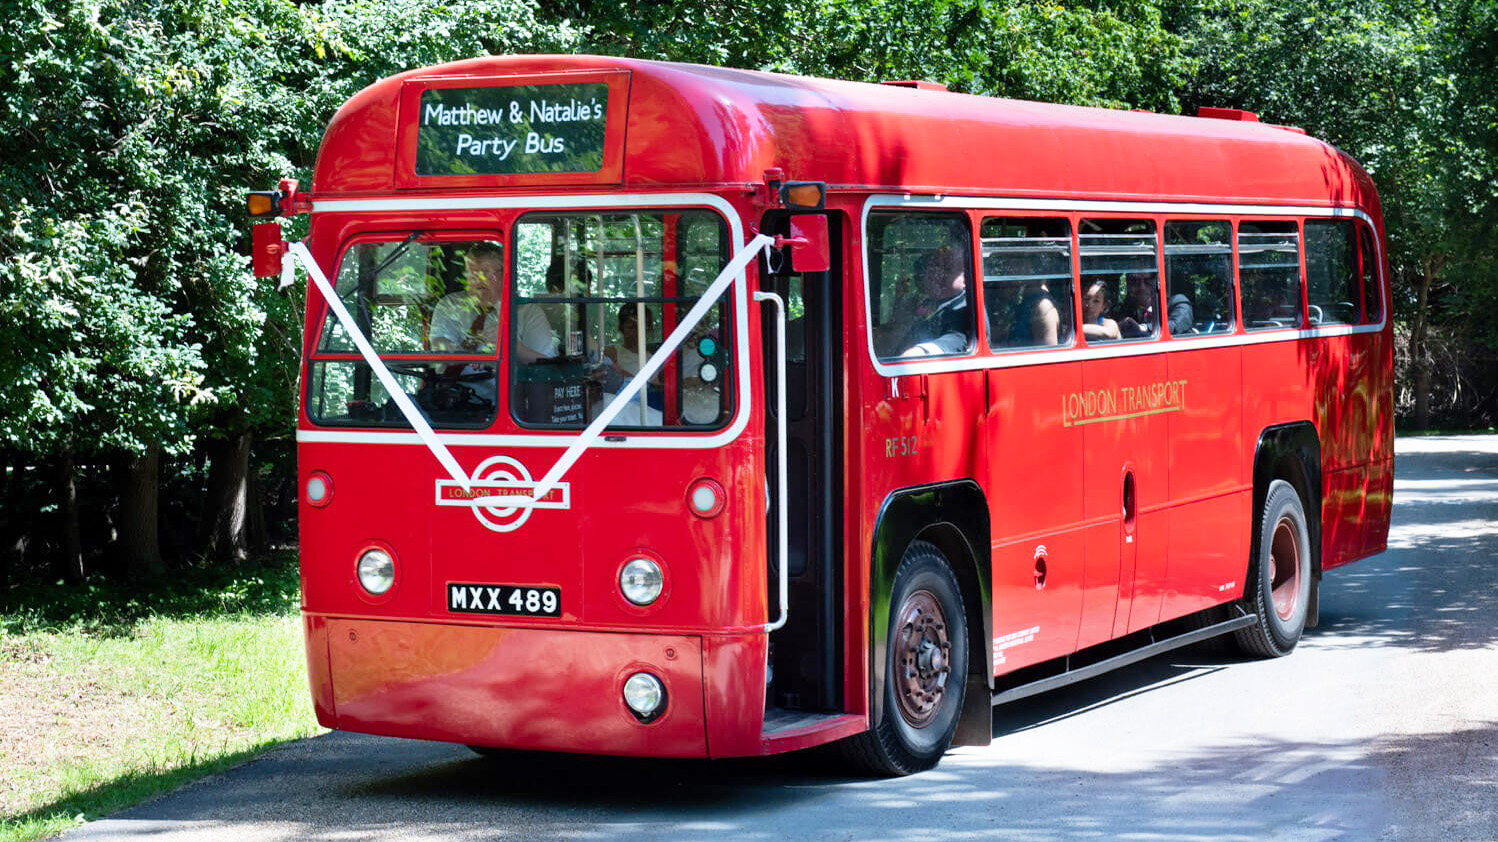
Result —
POLYGON ((900 716, 915 728, 924 728, 941 710, 951 674, 951 637, 947 614, 930 590, 917 590, 905 598, 896 614, 894 638, 894 698, 900 716))

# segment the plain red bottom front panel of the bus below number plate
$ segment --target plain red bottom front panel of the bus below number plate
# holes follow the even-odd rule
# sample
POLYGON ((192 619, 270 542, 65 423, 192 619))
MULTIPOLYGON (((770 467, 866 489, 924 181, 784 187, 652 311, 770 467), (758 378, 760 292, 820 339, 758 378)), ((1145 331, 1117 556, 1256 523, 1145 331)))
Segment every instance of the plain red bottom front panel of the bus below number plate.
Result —
POLYGON ((345 731, 517 749, 707 757, 703 640, 309 614, 318 719, 345 731), (625 679, 653 673, 667 710, 641 724, 625 679))

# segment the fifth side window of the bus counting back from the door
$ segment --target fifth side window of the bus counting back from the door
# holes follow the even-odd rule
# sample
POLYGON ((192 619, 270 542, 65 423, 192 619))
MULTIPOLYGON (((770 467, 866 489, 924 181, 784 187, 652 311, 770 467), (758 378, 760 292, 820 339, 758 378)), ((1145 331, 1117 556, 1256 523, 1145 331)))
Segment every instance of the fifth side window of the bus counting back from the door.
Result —
POLYGON ((1296 223, 1240 222, 1237 279, 1245 328, 1300 325, 1300 234, 1296 223))

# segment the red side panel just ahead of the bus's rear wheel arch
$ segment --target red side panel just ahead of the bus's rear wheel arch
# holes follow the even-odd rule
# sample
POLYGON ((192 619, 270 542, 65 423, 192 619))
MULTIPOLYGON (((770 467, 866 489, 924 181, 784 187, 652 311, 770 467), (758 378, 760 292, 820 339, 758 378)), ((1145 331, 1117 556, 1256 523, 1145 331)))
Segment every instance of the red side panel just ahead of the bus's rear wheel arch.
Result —
POLYGON ((1249 487, 1240 472, 1242 348, 1191 349, 1167 357, 1180 409, 1167 415, 1170 551, 1159 619, 1209 608, 1242 592, 1248 557, 1249 487))

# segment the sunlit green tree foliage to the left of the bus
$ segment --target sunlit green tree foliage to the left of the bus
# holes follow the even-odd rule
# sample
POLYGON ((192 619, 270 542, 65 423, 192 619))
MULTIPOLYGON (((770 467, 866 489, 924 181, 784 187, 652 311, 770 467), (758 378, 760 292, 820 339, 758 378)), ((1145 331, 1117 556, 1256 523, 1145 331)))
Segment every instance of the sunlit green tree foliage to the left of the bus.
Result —
POLYGON ((31 0, 0 25, 0 446, 39 455, 289 428, 300 303, 250 277, 243 192, 306 180, 380 76, 571 43, 524 0, 31 0))

